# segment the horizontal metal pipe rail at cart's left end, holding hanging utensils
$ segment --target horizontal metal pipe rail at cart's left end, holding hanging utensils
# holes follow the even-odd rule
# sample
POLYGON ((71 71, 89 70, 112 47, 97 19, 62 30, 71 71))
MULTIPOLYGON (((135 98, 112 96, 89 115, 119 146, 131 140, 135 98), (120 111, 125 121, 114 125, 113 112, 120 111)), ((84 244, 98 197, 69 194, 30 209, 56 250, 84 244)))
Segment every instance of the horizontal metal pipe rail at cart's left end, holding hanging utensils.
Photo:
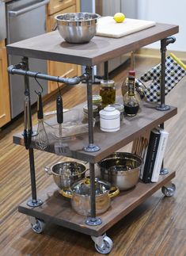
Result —
POLYGON ((54 82, 63 82, 66 83, 68 85, 77 85, 79 82, 82 82, 82 80, 85 80, 89 75, 84 73, 80 76, 76 76, 74 78, 61 78, 58 76, 54 76, 54 75, 46 75, 46 74, 42 74, 40 72, 32 72, 32 71, 25 71, 22 70, 20 68, 17 68, 17 66, 9 66, 8 67, 8 72, 11 75, 17 74, 17 75, 27 75, 29 77, 32 78, 40 78, 40 79, 44 79, 44 80, 48 80, 48 81, 54 81, 54 82))

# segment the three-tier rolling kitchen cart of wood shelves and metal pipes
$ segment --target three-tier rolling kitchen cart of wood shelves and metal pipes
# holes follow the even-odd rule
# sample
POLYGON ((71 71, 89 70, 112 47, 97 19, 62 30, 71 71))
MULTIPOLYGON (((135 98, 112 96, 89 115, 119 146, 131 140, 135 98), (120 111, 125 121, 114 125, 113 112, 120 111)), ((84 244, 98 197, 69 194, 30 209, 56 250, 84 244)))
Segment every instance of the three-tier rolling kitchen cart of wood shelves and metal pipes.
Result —
MULTIPOLYGON (((165 120, 177 114, 177 108, 165 105, 165 51, 169 43, 173 43, 172 36, 178 32, 177 25, 156 24, 154 27, 135 32, 129 36, 119 39, 94 36, 88 44, 68 44, 59 32, 49 32, 41 36, 36 36, 28 40, 22 40, 15 44, 9 44, 7 51, 12 55, 21 55, 25 64, 21 63, 9 67, 10 74, 25 75, 25 90, 29 91, 28 76, 44 78, 47 80, 58 81, 57 77, 38 74, 28 71, 28 58, 50 59, 64 63, 75 63, 86 66, 85 74, 77 78, 59 78, 59 82, 76 84, 82 79, 87 82, 87 101, 89 106, 89 133, 83 134, 81 139, 78 137, 68 143, 63 143, 56 151, 55 139, 50 141, 47 151, 66 155, 74 159, 89 162, 90 184, 91 184, 91 216, 85 217, 78 215, 70 206, 70 202, 56 193, 56 186, 53 184, 45 191, 36 194, 36 179, 34 167, 33 148, 35 147, 34 137, 28 146, 30 174, 32 185, 32 199, 25 201, 18 207, 18 211, 30 216, 32 230, 40 233, 44 230, 44 224, 51 222, 54 224, 68 227, 75 231, 80 231, 90 235, 95 243, 96 250, 101 254, 107 254, 112 250, 112 240, 105 235, 105 231, 112 227, 119 220, 131 212, 135 207, 145 201, 158 189, 167 197, 174 193, 175 186, 171 180, 175 177, 175 172, 161 175, 157 183, 139 183, 134 189, 123 191, 119 196, 112 200, 110 208, 100 216, 96 215, 95 207, 95 184, 94 184, 94 165, 104 159, 114 151, 130 143, 146 131, 150 131, 159 124, 163 126, 165 120), (127 52, 138 50, 147 44, 161 40, 161 104, 158 109, 153 105, 144 103, 142 111, 131 120, 121 122, 118 132, 101 132, 97 125, 93 128, 93 103, 92 103, 92 67, 99 63, 105 63, 109 59, 122 55, 127 52), (66 79, 66 80, 65 80, 66 79)), ((105 70, 105 78, 108 78, 108 70, 105 70)), ((31 114, 29 123, 32 128, 31 114)), ((23 135, 13 136, 13 142, 25 145, 23 135)))

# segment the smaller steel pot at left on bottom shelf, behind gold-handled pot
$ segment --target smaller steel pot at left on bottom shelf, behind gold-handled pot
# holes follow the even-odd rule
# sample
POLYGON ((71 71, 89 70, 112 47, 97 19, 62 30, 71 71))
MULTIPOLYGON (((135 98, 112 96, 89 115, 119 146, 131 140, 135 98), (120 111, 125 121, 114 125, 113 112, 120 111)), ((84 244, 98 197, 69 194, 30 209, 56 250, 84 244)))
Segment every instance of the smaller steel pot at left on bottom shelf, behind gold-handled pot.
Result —
POLYGON ((69 188, 75 181, 85 178, 86 166, 81 162, 57 162, 44 170, 53 175, 55 184, 59 189, 69 188))

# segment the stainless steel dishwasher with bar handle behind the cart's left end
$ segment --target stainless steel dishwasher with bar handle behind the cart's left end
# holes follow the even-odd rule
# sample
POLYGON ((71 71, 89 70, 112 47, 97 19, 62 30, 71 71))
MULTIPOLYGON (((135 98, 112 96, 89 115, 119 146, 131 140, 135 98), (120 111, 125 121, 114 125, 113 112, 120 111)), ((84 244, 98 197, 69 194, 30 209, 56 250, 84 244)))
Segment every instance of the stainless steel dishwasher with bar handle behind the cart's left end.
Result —
MULTIPOLYGON (((13 0, 6 3, 7 44, 38 36, 46 32, 46 4, 49 0, 13 0)), ((9 55, 9 65, 21 62, 21 56, 9 55)), ((47 73, 47 62, 41 59, 29 59, 29 69, 47 73)), ((34 90, 38 84, 34 78, 29 78, 31 104, 36 102, 34 90)), ((47 93, 47 82, 41 82, 44 94, 47 93)), ((11 101, 11 117, 23 112, 24 78, 20 75, 9 75, 9 90, 11 101)))

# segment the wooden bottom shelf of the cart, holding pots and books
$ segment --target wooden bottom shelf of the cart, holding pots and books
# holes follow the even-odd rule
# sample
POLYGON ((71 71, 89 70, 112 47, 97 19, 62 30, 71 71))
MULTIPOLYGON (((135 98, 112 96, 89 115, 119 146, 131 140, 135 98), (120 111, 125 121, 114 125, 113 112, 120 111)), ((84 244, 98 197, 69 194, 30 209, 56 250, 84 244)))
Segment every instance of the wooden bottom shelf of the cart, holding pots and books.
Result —
POLYGON ((46 223, 51 222, 59 226, 68 227, 75 231, 82 232, 86 235, 99 236, 103 235, 108 228, 112 227, 121 220, 127 213, 131 212, 139 204, 145 201, 163 185, 171 181, 176 176, 171 172, 160 176, 157 183, 145 184, 141 181, 134 189, 123 191, 119 196, 112 199, 110 208, 99 217, 102 224, 96 227, 85 224, 86 216, 78 215, 70 206, 70 200, 63 198, 55 184, 49 186, 42 193, 38 193, 38 198, 44 201, 40 207, 29 207, 25 201, 18 207, 18 211, 28 216, 34 216, 46 223))

